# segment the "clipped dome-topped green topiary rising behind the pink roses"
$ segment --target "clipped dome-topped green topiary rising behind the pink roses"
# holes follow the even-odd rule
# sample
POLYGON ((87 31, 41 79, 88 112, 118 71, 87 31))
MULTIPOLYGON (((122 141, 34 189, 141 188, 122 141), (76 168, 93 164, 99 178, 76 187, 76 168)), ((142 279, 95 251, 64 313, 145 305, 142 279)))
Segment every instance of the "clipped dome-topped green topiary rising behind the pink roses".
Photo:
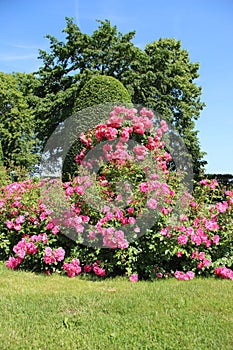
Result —
MULTIPOLYGON (((74 106, 77 118, 82 118, 82 131, 86 132, 95 125, 93 121, 96 119, 100 120, 100 117, 106 119, 113 106, 121 103, 132 104, 129 92, 119 80, 106 75, 91 78, 83 86, 74 106)), ((79 121, 78 124, 80 124, 79 121)), ((75 175, 77 171, 75 156, 81 152, 82 148, 83 145, 77 135, 77 140, 70 148, 63 163, 63 181, 68 181, 75 175)))

